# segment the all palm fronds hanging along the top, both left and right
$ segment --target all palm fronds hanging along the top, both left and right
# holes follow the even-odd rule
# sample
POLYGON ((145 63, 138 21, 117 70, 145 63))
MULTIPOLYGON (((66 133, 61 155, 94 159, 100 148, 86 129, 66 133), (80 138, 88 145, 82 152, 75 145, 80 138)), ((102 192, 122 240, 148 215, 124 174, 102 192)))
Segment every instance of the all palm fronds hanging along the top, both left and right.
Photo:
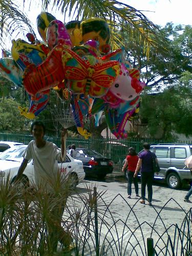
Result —
MULTIPOLYGON (((158 27, 141 11, 127 4, 116 0, 38 1, 42 4, 42 10, 46 11, 51 5, 56 7, 64 15, 64 19, 68 12, 70 19, 85 20, 90 17, 106 19, 111 27, 112 50, 123 46, 123 41, 126 41, 124 36, 126 33, 129 33, 129 37, 133 38, 134 42, 142 45, 146 56, 150 55, 151 47, 154 47, 157 51, 166 49, 166 41, 163 39, 158 27)), ((24 0, 24 4, 26 2, 31 3, 31 0, 24 0)), ((0 7, 0 29, 2 35, 25 29, 25 24, 32 31, 30 21, 23 12, 18 10, 16 4, 9 0, 0 0, 0 7)))

